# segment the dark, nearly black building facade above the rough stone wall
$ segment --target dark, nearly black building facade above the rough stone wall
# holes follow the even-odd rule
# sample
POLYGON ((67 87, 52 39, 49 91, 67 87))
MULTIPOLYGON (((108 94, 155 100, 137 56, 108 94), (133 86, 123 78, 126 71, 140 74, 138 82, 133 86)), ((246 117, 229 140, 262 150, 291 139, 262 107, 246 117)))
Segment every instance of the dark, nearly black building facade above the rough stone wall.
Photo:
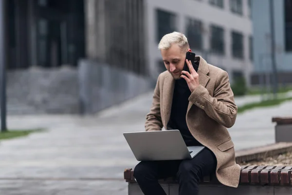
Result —
POLYGON ((6 0, 8 66, 76 65, 85 57, 83 0, 6 0))

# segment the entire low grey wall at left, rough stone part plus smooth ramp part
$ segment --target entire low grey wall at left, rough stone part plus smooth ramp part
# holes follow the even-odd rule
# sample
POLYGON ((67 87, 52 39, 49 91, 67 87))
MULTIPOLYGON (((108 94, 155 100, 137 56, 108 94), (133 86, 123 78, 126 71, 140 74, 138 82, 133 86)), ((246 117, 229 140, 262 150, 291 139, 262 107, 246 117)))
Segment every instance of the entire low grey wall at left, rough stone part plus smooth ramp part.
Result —
POLYGON ((153 87, 148 78, 81 60, 78 68, 36 68, 7 73, 7 112, 93 114, 153 87))

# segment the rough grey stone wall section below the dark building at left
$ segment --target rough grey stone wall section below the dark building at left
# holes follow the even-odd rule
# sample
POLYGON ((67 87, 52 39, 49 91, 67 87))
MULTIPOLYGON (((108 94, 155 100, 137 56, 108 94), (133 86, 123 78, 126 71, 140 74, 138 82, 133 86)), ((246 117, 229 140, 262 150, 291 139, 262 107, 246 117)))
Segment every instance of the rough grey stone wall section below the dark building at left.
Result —
POLYGON ((7 73, 8 114, 78 113, 77 70, 36 68, 7 73))

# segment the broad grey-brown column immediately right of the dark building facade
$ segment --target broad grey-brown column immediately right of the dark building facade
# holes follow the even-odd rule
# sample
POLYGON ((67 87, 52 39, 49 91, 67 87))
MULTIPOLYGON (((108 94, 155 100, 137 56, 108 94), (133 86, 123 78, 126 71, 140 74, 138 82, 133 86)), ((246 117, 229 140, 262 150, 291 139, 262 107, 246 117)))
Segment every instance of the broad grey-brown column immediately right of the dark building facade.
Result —
POLYGON ((105 0, 85 0, 86 56, 105 61, 106 9, 105 0))

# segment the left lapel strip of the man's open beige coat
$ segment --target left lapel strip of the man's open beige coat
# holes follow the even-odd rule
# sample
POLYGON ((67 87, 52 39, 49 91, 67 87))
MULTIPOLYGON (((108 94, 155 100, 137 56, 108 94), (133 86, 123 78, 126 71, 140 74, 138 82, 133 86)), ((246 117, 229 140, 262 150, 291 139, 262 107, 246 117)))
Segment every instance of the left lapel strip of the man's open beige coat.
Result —
POLYGON ((167 127, 167 123, 169 121, 172 98, 173 98, 173 90, 174 90, 174 78, 169 74, 164 78, 164 87, 163 87, 163 112, 164 112, 164 124, 165 128, 167 127))

